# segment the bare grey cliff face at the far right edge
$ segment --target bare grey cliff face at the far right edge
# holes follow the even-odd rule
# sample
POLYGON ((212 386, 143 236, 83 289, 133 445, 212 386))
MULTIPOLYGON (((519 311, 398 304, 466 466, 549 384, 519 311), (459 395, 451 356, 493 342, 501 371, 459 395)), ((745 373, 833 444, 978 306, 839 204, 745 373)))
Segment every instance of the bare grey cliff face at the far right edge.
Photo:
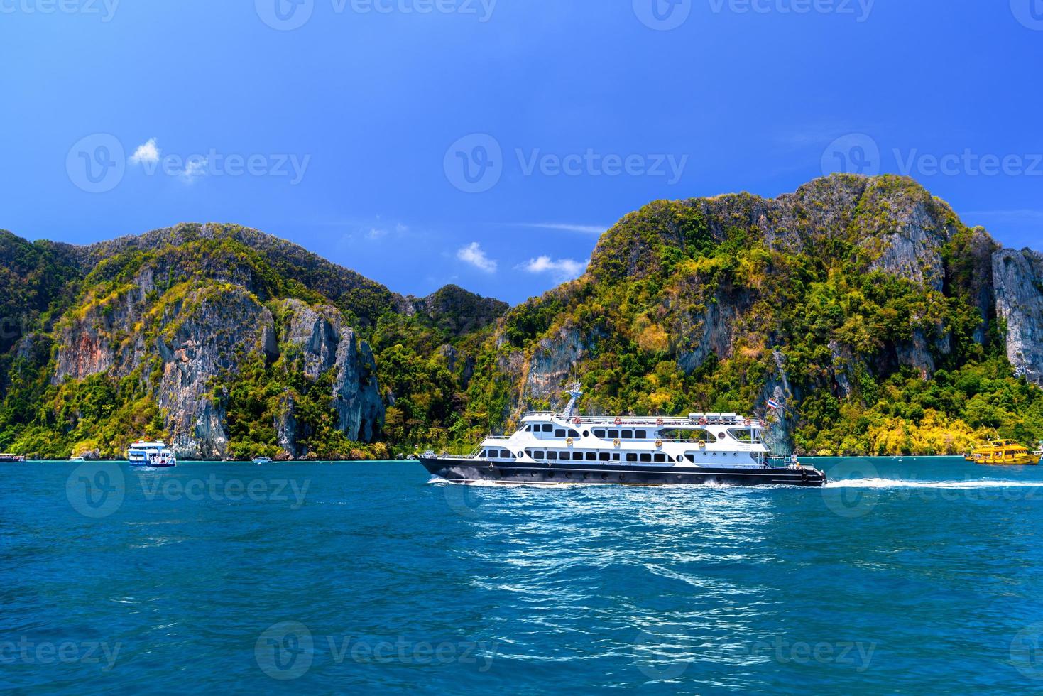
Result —
POLYGON ((1006 357, 1019 375, 1043 384, 1043 255, 1001 249, 992 268, 996 314, 1006 325, 1006 357))

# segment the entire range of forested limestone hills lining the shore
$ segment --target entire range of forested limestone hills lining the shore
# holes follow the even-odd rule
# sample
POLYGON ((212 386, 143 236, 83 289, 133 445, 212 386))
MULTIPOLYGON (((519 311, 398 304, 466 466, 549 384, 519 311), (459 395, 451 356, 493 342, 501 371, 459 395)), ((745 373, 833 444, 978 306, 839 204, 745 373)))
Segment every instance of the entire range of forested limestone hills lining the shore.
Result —
POLYGON ((582 278, 510 309, 456 286, 404 297, 236 225, 87 247, 0 234, 0 450, 467 448, 572 380, 588 411, 752 413, 801 452, 1032 443, 1041 290, 1043 257, 896 176, 652 202, 582 278))

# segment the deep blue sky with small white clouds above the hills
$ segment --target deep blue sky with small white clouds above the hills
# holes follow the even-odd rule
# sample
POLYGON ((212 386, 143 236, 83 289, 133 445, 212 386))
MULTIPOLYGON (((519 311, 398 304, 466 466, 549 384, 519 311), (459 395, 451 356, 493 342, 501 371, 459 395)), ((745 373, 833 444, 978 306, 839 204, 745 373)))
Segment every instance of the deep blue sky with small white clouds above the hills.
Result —
POLYGON ((0 227, 516 303, 656 198, 909 173, 1041 248, 1043 0, 0 0, 0 227))

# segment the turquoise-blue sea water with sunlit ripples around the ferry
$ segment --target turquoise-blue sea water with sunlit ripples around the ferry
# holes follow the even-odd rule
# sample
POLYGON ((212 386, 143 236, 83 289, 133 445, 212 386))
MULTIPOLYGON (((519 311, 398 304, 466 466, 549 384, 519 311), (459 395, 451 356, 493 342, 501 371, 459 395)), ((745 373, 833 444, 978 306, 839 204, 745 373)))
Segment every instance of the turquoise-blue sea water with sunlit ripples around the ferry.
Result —
POLYGON ((0 688, 1043 686, 1043 467, 815 463, 825 489, 0 464, 0 688))

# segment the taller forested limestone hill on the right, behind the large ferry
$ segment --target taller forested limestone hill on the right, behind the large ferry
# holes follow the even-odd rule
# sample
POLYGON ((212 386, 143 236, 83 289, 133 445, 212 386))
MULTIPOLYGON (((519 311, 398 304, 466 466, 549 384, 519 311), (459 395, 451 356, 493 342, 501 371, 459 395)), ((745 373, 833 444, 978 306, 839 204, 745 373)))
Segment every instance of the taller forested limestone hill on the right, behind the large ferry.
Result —
POLYGON ((587 273, 512 309, 468 390, 474 433, 560 403, 737 411, 782 449, 962 452, 1043 437, 1043 259, 897 176, 652 202, 587 273), (769 398, 783 404, 766 408, 769 398))

